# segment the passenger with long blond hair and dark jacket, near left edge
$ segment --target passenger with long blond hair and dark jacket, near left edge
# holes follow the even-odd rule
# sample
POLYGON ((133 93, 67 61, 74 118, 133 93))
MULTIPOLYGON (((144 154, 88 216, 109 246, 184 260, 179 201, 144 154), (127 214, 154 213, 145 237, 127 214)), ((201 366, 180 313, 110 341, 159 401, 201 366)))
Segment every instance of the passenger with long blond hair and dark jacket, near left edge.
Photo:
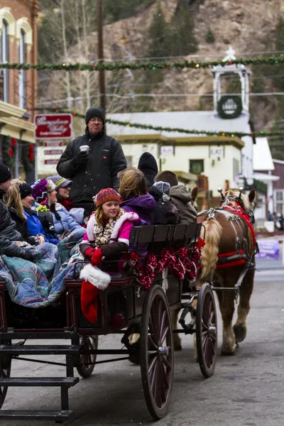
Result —
POLYGON ((23 182, 19 179, 11 180, 11 185, 4 195, 4 202, 6 207, 8 207, 11 214, 11 218, 16 224, 17 231, 20 232, 23 239, 31 246, 38 246, 38 244, 45 242, 45 237, 43 234, 36 234, 29 236, 28 235, 28 225, 27 217, 23 212, 23 204, 21 202, 21 197, 26 197, 28 192, 31 195, 32 189, 26 182, 23 182), (21 192, 20 192, 21 187, 21 192))

